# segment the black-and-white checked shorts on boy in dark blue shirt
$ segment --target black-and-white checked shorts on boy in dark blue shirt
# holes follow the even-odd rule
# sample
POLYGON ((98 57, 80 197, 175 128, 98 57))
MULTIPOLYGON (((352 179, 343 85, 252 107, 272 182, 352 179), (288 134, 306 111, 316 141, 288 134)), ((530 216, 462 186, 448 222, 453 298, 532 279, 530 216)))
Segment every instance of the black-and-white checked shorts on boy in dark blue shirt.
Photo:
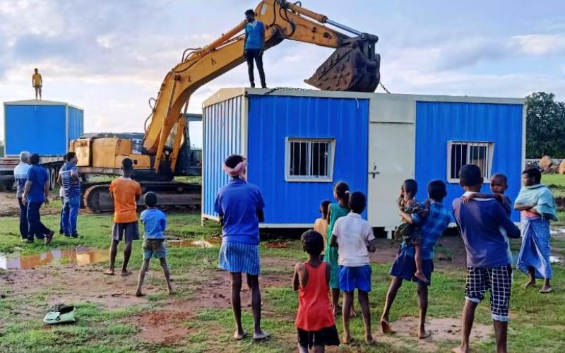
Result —
POLYGON ((508 322, 512 267, 505 265, 495 268, 467 267, 465 299, 480 303, 484 293, 490 291, 490 312, 492 319, 508 322))

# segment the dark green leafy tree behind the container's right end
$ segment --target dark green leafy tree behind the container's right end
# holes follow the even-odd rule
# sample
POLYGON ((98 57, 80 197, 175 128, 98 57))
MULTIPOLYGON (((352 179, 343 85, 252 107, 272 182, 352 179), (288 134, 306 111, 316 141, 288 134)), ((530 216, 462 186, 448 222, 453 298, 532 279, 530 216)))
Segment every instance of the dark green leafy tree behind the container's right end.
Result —
POLYGON ((565 157, 565 103, 553 93, 534 92, 526 109, 526 155, 528 158, 565 157))

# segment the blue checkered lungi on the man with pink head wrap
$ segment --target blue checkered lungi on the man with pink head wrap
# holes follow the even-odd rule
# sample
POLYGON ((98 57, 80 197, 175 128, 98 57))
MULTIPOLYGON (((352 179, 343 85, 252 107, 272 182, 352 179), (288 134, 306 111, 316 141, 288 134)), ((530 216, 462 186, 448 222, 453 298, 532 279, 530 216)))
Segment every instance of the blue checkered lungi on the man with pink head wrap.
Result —
POLYGON ((218 268, 258 276, 260 267, 258 245, 222 242, 218 255, 218 268))

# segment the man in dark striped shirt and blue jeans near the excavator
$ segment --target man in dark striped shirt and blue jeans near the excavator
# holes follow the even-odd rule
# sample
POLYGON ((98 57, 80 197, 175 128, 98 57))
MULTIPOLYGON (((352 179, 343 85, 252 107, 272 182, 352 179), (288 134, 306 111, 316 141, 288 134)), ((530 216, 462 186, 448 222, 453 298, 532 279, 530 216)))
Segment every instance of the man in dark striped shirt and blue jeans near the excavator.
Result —
POLYGON ((63 188, 64 206, 61 222, 65 237, 78 238, 76 220, 81 207, 81 178, 76 170, 76 154, 66 154, 66 163, 59 172, 59 184, 63 188))

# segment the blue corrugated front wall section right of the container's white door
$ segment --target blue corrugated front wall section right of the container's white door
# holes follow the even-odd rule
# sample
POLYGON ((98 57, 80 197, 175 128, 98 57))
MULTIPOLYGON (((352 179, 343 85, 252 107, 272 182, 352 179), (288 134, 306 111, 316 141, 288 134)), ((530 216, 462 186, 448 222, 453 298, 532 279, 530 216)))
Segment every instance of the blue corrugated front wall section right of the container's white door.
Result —
MULTIPOLYGON (((523 106, 519 104, 485 104, 453 102, 417 102, 415 175, 420 192, 427 198, 425 185, 432 179, 446 180, 448 141, 492 141, 494 153, 492 174, 504 172, 508 177, 506 195, 515 200, 521 187, 523 106)), ((483 192, 489 192, 484 184, 483 192)), ((463 190, 447 183, 444 204, 451 209, 454 198, 463 190)), ((513 213, 513 220, 519 220, 513 213)))

